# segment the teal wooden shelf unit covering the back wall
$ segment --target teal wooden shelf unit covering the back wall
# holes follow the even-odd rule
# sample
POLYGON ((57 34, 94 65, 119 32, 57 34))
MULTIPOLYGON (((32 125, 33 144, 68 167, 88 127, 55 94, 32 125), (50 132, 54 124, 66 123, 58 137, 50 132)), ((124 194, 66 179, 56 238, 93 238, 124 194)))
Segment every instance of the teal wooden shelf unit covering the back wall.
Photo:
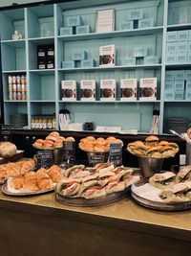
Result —
MULTIPOLYGON (((12 113, 27 113, 28 127, 32 116, 55 113, 59 128, 59 110, 67 108, 75 123, 94 122, 97 126, 120 126, 123 129, 138 128, 139 132, 149 132, 153 111, 159 108, 159 133, 166 132, 169 117, 184 116, 191 120, 190 101, 165 101, 164 85, 166 70, 191 69, 191 63, 166 64, 166 36, 168 31, 191 29, 191 20, 176 18, 175 14, 191 12, 190 1, 177 0, 114 0, 73 1, 46 6, 16 8, 0 13, 0 33, 2 49, 2 73, 5 122, 10 123, 12 113), (96 33, 96 12, 115 10, 115 31, 96 33), (154 27, 121 30, 128 10, 142 9, 144 18, 154 18, 154 27), (60 35, 60 28, 66 24, 70 15, 80 15, 84 25, 91 26, 90 34, 60 35), (5 26, 6 25, 6 26, 5 26), (5 29, 6 28, 6 29, 5 29), (11 40, 18 30, 21 40, 11 40), (54 69, 37 69, 37 46, 54 45, 54 69), (117 50, 116 66, 99 67, 99 46, 115 44, 117 50), (123 65, 123 58, 131 57, 135 46, 147 46, 149 56, 159 56, 159 64, 145 65, 142 58, 136 65, 123 65), (96 60, 96 66, 82 68, 79 62, 73 69, 62 68, 63 60, 71 60, 75 50, 85 50, 88 58, 96 60), (10 101, 8 97, 8 76, 26 74, 28 81, 28 100, 10 101), (121 79, 157 77, 158 97, 151 102, 120 102, 119 82, 121 79), (99 101, 99 82, 103 79, 117 80, 117 98, 112 102, 99 101), (96 101, 63 102, 61 81, 96 80, 96 101)), ((182 16, 182 15, 181 15, 182 16)))

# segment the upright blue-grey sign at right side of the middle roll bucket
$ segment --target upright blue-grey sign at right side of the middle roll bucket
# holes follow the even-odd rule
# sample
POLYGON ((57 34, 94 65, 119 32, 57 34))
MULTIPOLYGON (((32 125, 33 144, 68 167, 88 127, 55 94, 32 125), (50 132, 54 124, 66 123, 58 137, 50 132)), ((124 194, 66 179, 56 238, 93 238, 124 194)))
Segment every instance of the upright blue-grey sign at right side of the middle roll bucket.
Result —
POLYGON ((114 163, 115 166, 122 164, 122 147, 120 143, 110 144, 109 161, 114 163))

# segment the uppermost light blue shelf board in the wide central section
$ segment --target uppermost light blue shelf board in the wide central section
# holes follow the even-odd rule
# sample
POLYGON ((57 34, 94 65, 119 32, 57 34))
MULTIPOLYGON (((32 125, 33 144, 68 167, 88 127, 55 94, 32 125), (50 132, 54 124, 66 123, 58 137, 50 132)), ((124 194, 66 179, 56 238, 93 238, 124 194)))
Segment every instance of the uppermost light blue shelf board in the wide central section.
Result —
POLYGON ((146 29, 134 29, 128 31, 114 31, 110 33, 91 33, 83 35, 58 35, 57 37, 65 42, 68 41, 79 41, 79 40, 92 40, 92 39, 103 39, 111 37, 123 37, 123 36, 132 36, 132 35, 153 35, 156 33, 162 33, 163 27, 152 27, 146 29))

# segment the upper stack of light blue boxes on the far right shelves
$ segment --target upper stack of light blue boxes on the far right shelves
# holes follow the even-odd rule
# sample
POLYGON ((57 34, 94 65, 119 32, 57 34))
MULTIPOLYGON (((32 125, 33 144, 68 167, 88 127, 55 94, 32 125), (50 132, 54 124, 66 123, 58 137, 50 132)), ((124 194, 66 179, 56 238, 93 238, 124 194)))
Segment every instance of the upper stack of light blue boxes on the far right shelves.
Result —
POLYGON ((191 62, 191 30, 167 32, 166 64, 187 62, 191 62))

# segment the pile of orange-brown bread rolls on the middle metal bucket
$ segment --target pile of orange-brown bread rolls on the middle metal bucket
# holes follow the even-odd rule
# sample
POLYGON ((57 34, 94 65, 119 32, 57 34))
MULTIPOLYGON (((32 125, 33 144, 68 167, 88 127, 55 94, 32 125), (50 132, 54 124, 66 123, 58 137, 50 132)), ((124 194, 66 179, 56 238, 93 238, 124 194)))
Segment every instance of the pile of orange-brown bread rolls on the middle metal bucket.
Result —
POLYGON ((113 136, 110 136, 106 139, 101 137, 96 139, 94 136, 88 136, 81 139, 78 146, 82 151, 106 152, 110 150, 111 143, 120 143, 123 145, 121 140, 113 136))

